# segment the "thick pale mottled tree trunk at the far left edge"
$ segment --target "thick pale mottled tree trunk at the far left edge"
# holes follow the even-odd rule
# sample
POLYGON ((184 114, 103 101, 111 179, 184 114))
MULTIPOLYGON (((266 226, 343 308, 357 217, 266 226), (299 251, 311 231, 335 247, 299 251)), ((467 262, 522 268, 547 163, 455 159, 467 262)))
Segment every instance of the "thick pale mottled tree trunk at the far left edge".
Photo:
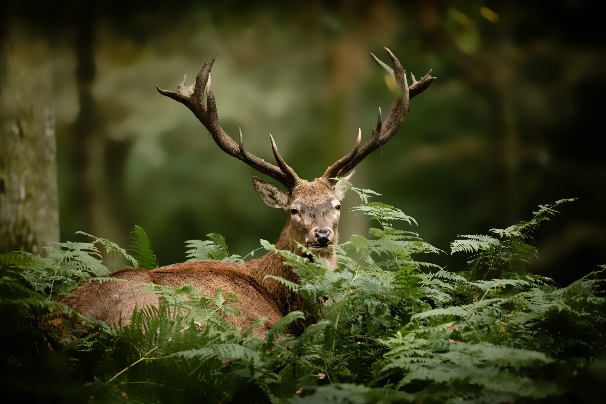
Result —
POLYGON ((59 241, 50 51, 16 26, 0 45, 0 253, 41 253, 59 241))

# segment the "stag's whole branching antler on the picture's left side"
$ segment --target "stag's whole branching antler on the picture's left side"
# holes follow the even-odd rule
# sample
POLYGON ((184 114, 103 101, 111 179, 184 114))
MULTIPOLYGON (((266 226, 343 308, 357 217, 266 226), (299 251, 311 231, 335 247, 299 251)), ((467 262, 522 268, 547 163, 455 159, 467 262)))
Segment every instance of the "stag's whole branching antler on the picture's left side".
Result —
POLYGON ((210 63, 204 63, 204 66, 202 66, 202 69, 196 77, 196 81, 191 83, 189 86, 185 86, 185 79, 187 78, 187 75, 184 75, 181 84, 179 84, 177 87, 177 92, 162 90, 158 86, 156 86, 156 89, 158 89, 158 92, 162 95, 172 98, 175 101, 179 101, 179 103, 187 106, 191 112, 196 115, 202 125, 208 129, 208 132, 210 132, 211 136, 213 136, 215 143, 218 144, 218 146, 221 147, 221 150, 223 150, 225 153, 244 161, 244 163, 248 164, 259 172, 280 181, 288 188, 289 191, 292 190, 299 182, 301 182, 301 178, 296 175, 295 170, 291 169, 291 167, 284 162, 284 159, 282 159, 282 156, 278 151, 276 142, 273 140, 271 135, 269 135, 271 140, 271 149, 273 150, 273 155, 278 162, 278 167, 267 163, 267 161, 256 157, 254 154, 248 153, 244 149, 242 130, 240 130, 239 144, 236 144, 236 142, 233 141, 233 139, 231 139, 227 133, 225 133, 225 130, 223 130, 221 125, 219 125, 219 116, 217 113, 215 95, 213 95, 210 79, 210 69, 213 67, 216 57, 217 55, 215 54, 210 63), (207 88, 207 105, 204 104, 205 87, 207 88))

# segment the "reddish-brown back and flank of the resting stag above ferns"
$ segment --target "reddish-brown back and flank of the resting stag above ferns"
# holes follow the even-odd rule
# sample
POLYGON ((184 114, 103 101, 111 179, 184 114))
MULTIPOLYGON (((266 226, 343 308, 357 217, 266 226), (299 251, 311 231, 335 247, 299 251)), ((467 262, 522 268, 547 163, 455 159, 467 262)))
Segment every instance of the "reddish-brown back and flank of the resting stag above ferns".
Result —
MULTIPOLYGON (((257 318, 267 318, 263 326, 256 326, 251 332, 252 335, 263 337, 282 318, 282 312, 264 286, 240 271, 241 266, 208 260, 173 264, 153 271, 124 269, 105 275, 123 281, 83 282, 70 295, 61 296, 57 301, 81 314, 117 326, 119 322, 122 325, 130 323, 135 309, 158 307, 161 295, 141 291, 137 287, 139 284, 155 283, 175 288, 192 284, 201 286, 201 294, 209 297, 215 295, 216 288, 219 288, 225 294, 234 292, 239 297, 239 302, 233 306, 241 312, 242 317, 230 316, 233 325, 247 329, 257 318)), ((53 328, 65 331, 62 318, 53 318, 49 323, 53 328)), ((73 322, 72 327, 78 328, 78 324, 73 322)))

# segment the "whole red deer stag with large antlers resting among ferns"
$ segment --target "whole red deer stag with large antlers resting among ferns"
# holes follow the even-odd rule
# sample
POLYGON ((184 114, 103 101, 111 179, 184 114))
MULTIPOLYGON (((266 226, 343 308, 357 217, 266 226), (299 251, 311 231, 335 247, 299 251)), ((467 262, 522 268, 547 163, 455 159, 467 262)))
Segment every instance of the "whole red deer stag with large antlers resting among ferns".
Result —
MULTIPOLYGON (((240 131, 239 143, 225 133, 219 125, 215 96, 211 88, 210 69, 216 55, 210 63, 202 66, 196 81, 190 86, 185 86, 187 76, 185 75, 177 92, 162 90, 157 86, 156 88, 162 95, 187 106, 208 129, 221 150, 287 187, 288 192, 284 192, 273 183, 253 177, 253 185, 259 198, 268 206, 284 209, 288 214, 286 226, 276 247, 301 254, 296 243, 304 244, 316 258, 325 260, 331 268, 335 268, 336 255, 331 244, 338 240, 337 224, 341 208, 339 200, 343 197, 344 190, 339 189, 342 181, 332 178, 344 177, 348 174, 345 180, 351 180, 355 172, 353 168, 398 132, 408 113, 410 99, 427 89, 435 79, 431 76, 431 70, 419 81, 411 74, 412 84, 408 86, 406 72, 400 62, 389 49, 385 48, 385 50, 393 62, 394 69, 372 53, 371 56, 398 84, 398 91, 387 117, 385 120, 381 118, 379 108, 379 120, 376 127, 374 125, 372 127, 370 139, 360 146, 362 135, 359 130, 351 152, 328 167, 322 177, 313 181, 302 180, 296 175, 295 170, 284 162, 271 135, 271 149, 278 166, 247 152, 242 142, 242 131, 240 131), (204 89, 207 89, 206 103, 204 103, 204 89)), ((264 335, 283 315, 302 309, 301 297, 298 294, 278 281, 266 279, 265 275, 277 275, 293 282, 298 281, 295 272, 290 267, 284 266, 278 255, 268 252, 260 258, 238 264, 208 260, 173 264, 153 271, 145 269, 118 271, 107 276, 122 278, 128 280, 128 283, 85 282, 73 291, 73 295, 61 297, 59 301, 76 311, 112 323, 117 322, 121 312, 122 317, 127 319, 136 307, 158 305, 158 296, 137 292, 136 289, 132 289, 136 284, 144 282, 169 286, 197 284, 203 286, 203 293, 208 295, 215 292, 214 288, 208 287, 211 284, 225 292, 233 291, 240 298, 236 307, 242 312, 243 317, 233 318, 235 325, 247 328, 256 318, 266 317, 265 326, 253 331, 253 334, 264 335)), ((305 322, 295 323, 291 325, 288 332, 300 334, 305 325, 305 322)))

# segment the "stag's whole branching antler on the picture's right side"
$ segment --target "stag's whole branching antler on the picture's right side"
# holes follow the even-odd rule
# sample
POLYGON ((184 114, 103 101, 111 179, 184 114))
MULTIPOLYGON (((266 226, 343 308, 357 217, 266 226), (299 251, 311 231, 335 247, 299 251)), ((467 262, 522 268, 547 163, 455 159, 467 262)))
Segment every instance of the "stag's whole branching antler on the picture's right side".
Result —
POLYGON ((376 128, 374 125, 372 126, 370 139, 359 149, 358 143, 356 143, 354 150, 351 150, 348 155, 328 167, 323 176, 323 178, 327 180, 332 177, 342 177, 364 160, 367 155, 387 143, 387 141, 398 132, 402 123, 404 123, 404 118, 406 118, 408 110, 410 109, 410 99, 424 92, 424 90, 430 86, 431 82, 436 79, 431 76, 431 70, 419 81, 411 74, 413 84, 409 87, 406 79, 406 71, 402 68, 398 58, 391 53, 391 50, 385 48, 385 51, 391 59, 393 69, 372 53, 370 55, 375 62, 377 62, 377 64, 398 83, 398 91, 396 91, 393 101, 391 102, 387 117, 385 117, 385 120, 382 120, 381 108, 379 108, 379 120, 376 128))

